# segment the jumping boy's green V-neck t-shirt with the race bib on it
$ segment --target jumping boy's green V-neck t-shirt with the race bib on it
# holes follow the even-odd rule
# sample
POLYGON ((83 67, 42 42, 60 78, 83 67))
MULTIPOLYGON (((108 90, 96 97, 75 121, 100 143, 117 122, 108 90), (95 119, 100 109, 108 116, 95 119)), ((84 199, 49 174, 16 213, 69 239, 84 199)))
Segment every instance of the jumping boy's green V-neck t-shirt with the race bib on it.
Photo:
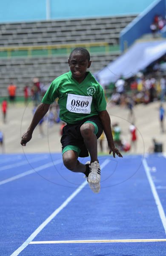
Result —
POLYGON ((103 88, 90 72, 80 84, 72 78, 70 71, 54 79, 42 102, 52 104, 56 98, 59 98, 60 119, 67 124, 106 110, 103 88))

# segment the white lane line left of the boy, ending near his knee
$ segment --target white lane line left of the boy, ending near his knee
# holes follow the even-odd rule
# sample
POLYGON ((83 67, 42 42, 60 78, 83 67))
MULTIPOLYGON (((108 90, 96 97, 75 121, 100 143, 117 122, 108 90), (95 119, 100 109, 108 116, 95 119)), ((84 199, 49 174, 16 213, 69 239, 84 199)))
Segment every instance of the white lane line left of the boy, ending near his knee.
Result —
POLYGON ((37 167, 37 168, 30 169, 29 171, 26 171, 26 172, 20 173, 20 174, 18 174, 18 175, 12 176, 12 177, 10 177, 10 178, 8 178, 8 179, 6 179, 6 180, 1 180, 1 181, 0 181, 0 185, 6 184, 6 183, 11 182, 11 181, 13 181, 13 180, 18 180, 18 179, 20 179, 20 178, 22 178, 22 177, 25 177, 25 176, 27 176, 27 175, 30 175, 30 174, 32 174, 32 173, 34 173, 34 172, 39 172, 39 171, 41 171, 41 170, 43 170, 43 169, 46 169, 46 168, 48 168, 48 167, 50 167, 50 166, 54 166, 54 165, 56 165, 56 164, 58 164, 58 163, 62 163, 62 160, 60 159, 60 160, 57 160, 57 161, 53 161, 53 162, 50 162, 50 163, 46 163, 46 164, 44 164, 44 165, 42 165, 42 166, 39 166, 39 167, 37 167))

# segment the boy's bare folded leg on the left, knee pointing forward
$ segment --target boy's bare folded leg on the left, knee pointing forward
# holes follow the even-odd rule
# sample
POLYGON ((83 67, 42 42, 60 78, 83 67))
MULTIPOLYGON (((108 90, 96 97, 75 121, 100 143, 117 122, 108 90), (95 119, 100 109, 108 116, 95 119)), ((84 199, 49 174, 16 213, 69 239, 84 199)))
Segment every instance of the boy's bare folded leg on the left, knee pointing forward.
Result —
POLYGON ((63 153, 63 163, 67 169, 72 172, 86 172, 85 164, 80 163, 78 160, 78 154, 74 150, 68 150, 63 153))

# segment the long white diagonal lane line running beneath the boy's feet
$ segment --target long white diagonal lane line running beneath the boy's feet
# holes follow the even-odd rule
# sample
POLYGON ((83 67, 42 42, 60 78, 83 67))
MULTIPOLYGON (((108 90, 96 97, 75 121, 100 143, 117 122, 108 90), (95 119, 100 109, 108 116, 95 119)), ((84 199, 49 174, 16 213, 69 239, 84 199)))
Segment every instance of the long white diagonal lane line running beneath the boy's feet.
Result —
MULTIPOLYGON (((109 162, 108 160, 105 160, 100 167, 103 168, 103 166, 105 166, 105 162, 107 161, 107 163, 109 162)), ((31 234, 31 236, 29 236, 28 239, 26 239, 26 241, 17 249, 14 251, 14 253, 11 254, 11 256, 17 256, 22 250, 24 250, 28 244, 38 235, 38 233, 40 233, 41 230, 43 230, 44 227, 46 227, 47 224, 49 224, 50 221, 52 221, 52 219, 61 211, 63 210, 70 201, 72 201, 72 199, 88 184, 87 180, 85 180, 73 193, 72 195, 70 195, 64 202, 63 204, 60 205, 60 207, 58 207, 54 212, 52 212, 51 215, 49 215, 48 218, 46 218, 45 221, 43 221, 42 224, 40 224, 39 227, 37 227, 36 230, 34 230, 34 232, 31 234)))

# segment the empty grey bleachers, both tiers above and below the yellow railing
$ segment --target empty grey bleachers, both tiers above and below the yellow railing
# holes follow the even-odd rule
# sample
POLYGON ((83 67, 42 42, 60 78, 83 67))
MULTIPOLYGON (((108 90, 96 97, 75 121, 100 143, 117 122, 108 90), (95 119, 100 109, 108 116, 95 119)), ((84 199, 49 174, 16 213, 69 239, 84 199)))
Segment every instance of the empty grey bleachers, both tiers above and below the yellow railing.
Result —
MULTIPOLYGON (((119 44, 120 31, 136 15, 100 17, 73 20, 51 20, 0 24, 0 50, 3 47, 29 47, 41 45, 65 45, 105 42, 119 44)), ((10 48, 9 48, 10 49, 10 48)), ((90 52, 91 53, 91 52, 90 52)), ((92 53, 92 73, 117 58, 120 52, 92 53)), ((43 84, 69 70, 68 55, 46 55, 0 58, 0 96, 7 95, 12 81, 17 85, 17 95, 23 95, 23 87, 38 77, 43 84)))

